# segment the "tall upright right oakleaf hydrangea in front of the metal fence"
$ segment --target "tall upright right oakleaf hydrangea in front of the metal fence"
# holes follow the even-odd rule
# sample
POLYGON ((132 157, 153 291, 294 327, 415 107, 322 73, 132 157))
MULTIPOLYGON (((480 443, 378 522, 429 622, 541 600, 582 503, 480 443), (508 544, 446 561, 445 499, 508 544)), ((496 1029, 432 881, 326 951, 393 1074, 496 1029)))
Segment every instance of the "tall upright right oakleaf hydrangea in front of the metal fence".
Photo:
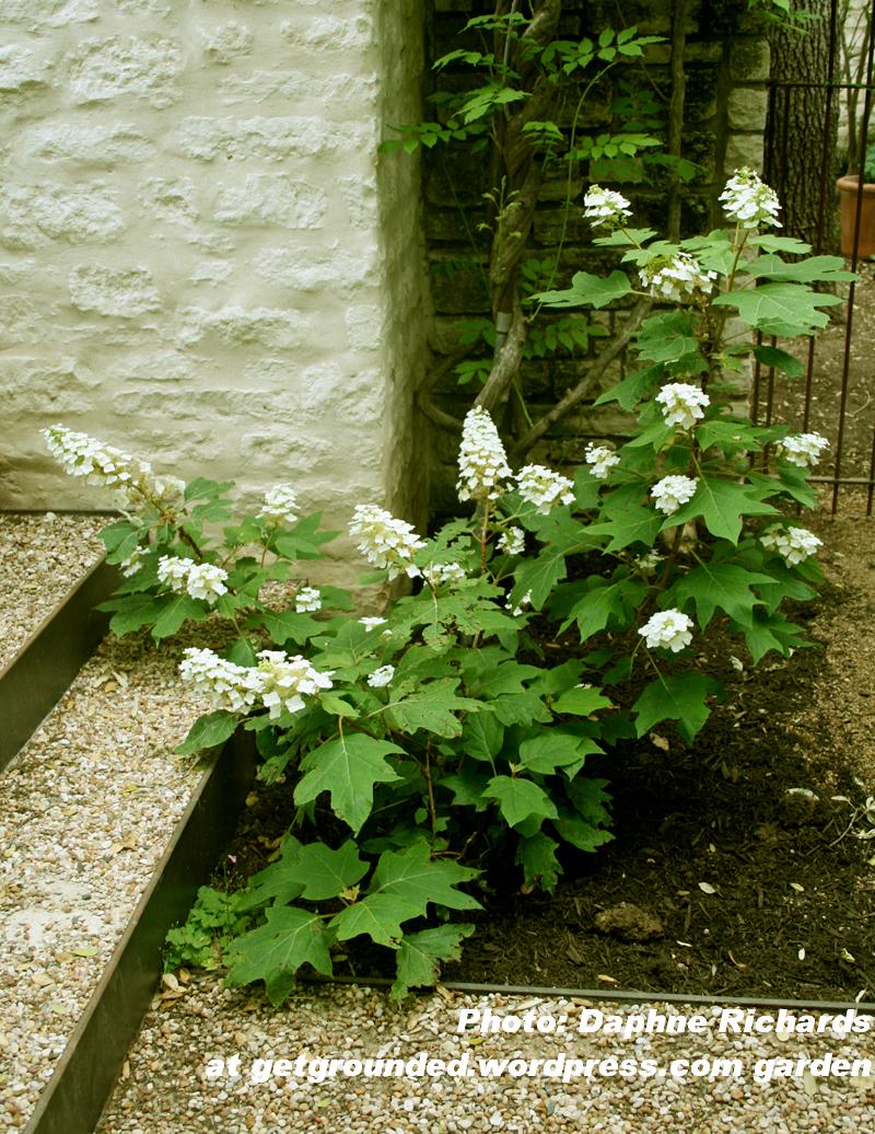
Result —
POLYGON ((841 301, 813 285, 855 277, 843 260, 767 231, 780 227, 780 203, 753 170, 737 170, 720 201, 731 227, 672 244, 630 227, 629 201, 594 186, 585 217, 626 270, 606 280, 578 272, 566 290, 537 297, 555 307, 654 301, 635 337, 638 369, 596 403, 636 413, 634 435, 589 445, 576 507, 534 525, 542 548, 513 590, 560 632, 593 641, 584 660, 620 704, 614 735, 671 722, 691 741, 722 693, 695 661, 712 631, 738 635, 754 663, 770 651, 789 657, 806 643, 782 603, 812 599, 821 578, 821 540, 788 516, 815 505, 806 474, 827 441, 751 424, 737 411, 737 374, 754 357, 798 378, 797 358, 754 332, 773 342, 815 335, 827 322, 822 308, 841 301), (567 560, 581 550, 598 567, 567 582, 567 560))

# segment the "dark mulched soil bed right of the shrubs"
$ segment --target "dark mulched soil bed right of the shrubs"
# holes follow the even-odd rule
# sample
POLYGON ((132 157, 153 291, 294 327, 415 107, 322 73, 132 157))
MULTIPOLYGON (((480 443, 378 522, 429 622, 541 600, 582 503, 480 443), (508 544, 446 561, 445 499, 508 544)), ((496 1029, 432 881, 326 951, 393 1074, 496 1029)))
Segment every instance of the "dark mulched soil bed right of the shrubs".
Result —
MULTIPOLYGON (((859 837, 875 830, 875 545, 853 507, 812 519, 826 583, 798 615, 817 645, 748 671, 717 640, 700 663, 728 695, 695 744, 657 728, 591 756, 614 841, 567 855, 553 895, 491 880, 448 979, 875 1000, 875 838, 859 837), (605 932, 605 919, 620 924, 605 932)), ((288 786, 262 788, 216 885, 263 868, 292 813, 288 786)), ((356 948, 339 972, 392 975, 386 956, 356 948)))

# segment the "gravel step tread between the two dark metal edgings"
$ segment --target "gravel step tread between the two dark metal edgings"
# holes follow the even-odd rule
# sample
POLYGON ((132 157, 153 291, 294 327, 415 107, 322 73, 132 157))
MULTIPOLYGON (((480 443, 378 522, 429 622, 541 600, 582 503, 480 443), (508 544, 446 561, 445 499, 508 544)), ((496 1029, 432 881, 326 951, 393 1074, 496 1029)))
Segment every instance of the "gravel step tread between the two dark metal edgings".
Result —
POLYGON ((0 1128, 24 1125, 198 780, 171 755, 206 708, 180 650, 104 642, 0 777, 0 1128))

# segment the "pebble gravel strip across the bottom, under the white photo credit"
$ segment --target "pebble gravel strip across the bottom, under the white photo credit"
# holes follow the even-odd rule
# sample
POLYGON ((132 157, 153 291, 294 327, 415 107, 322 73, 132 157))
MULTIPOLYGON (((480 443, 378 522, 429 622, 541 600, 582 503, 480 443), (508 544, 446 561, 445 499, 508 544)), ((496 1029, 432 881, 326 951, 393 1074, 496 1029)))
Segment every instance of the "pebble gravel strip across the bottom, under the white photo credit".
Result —
MULTIPOLYGON (((304 988, 282 1010, 247 990, 222 990, 215 981, 193 978, 181 995, 172 992, 153 1008, 129 1052, 116 1093, 96 1134, 278 1134, 282 1131, 325 1131, 358 1134, 450 1134, 450 1132, 517 1131, 774 1131, 776 1134, 863 1131, 872 1128, 875 1077, 872 1068, 852 1060, 875 1059, 872 1035, 848 1038, 831 1031, 787 1039, 778 1035, 720 1033, 720 1009, 653 1005, 600 1004, 605 1015, 654 1008, 661 1014, 702 1014, 702 1034, 579 1034, 583 1001, 540 1000, 503 996, 433 993, 402 1008, 383 992, 358 988, 304 988), (564 1034, 459 1034, 460 1010, 562 1017, 564 1034), (427 1075, 365 1077, 338 1072, 316 1082, 324 1065, 311 1059, 367 1058, 466 1059, 467 1077, 427 1075), (796 1064, 802 1056, 847 1060, 846 1077, 818 1077, 796 1064), (591 1078, 584 1073, 562 1082, 543 1074, 543 1065, 519 1074, 481 1077, 479 1059, 558 1059, 562 1052, 597 1060, 591 1078), (239 1064, 227 1064, 232 1057, 239 1064), (294 1066, 304 1057, 300 1068, 294 1066), (611 1057, 614 1057, 613 1060, 611 1057), (284 1058, 279 1070, 256 1060, 284 1058), (739 1060, 719 1077, 717 1058, 739 1060), (676 1065, 673 1060, 686 1060, 676 1065), (694 1064, 696 1059, 710 1060, 694 1064), (758 1082, 767 1074, 765 1059, 790 1059, 800 1074, 758 1082), (220 1068, 218 1063, 226 1060, 220 1068), (623 1060, 636 1060, 636 1066, 623 1060), (655 1074, 637 1074, 653 1060, 655 1074), (313 1070, 313 1077, 308 1068, 313 1070), (228 1072, 237 1070, 236 1077, 228 1072), (660 1069, 665 1072, 660 1075, 660 1069), (303 1074, 300 1073, 303 1070, 303 1074), (868 1072, 868 1073, 867 1073, 868 1072), (737 1074, 737 1073, 740 1073, 737 1074), (863 1073, 863 1074, 860 1074, 863 1073), (629 1075, 625 1078, 623 1075, 629 1075), (216 1077, 213 1077, 216 1076, 216 1077), (713 1077, 712 1077, 713 1076, 713 1077), (253 1080, 256 1080, 255 1082, 253 1080), (262 1080, 262 1081, 257 1081, 262 1080)), ((738 1009, 737 1009, 738 1010, 738 1009)), ((875 1029, 875 1021, 872 1022, 875 1029)), ((530 1023, 529 1026, 537 1025, 530 1023)), ((567 1072, 568 1061, 554 1064, 567 1072)), ((347 1070, 355 1072, 356 1065, 347 1070)), ((417 1065, 411 1067, 413 1072, 417 1065)), ((458 1075, 460 1066, 457 1065, 458 1075)), ((815 1065, 817 1069, 817 1065, 815 1065)), ((512 1073, 511 1073, 512 1072, 512 1073)))

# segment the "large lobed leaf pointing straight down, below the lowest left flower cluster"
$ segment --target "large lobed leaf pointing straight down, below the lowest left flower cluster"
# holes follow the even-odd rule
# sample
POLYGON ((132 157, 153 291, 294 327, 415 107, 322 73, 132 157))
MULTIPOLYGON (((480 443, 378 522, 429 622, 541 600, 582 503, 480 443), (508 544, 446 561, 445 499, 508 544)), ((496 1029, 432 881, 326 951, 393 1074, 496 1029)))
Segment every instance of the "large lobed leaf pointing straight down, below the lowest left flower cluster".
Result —
POLYGON ((357 835, 371 814, 374 784, 391 784, 400 778, 385 760, 392 753, 403 755, 403 748, 364 733, 334 737, 301 761, 305 775, 295 788, 295 803, 309 803, 321 792, 328 792, 334 814, 357 835))

